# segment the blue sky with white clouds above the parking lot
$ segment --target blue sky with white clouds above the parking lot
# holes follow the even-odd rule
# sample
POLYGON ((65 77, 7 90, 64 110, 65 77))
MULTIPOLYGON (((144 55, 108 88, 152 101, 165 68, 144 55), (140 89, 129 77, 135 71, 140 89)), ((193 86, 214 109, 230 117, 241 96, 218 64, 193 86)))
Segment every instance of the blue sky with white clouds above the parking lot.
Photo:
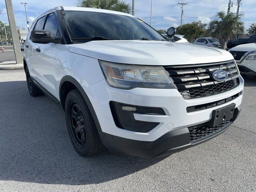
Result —
MULTIPOLYGON (((20 2, 26 2, 28 21, 30 25, 32 21, 43 12, 56 6, 76 6, 77 0, 12 0, 14 7, 14 15, 16 25, 26 28, 26 15, 24 5, 20 2)), ((132 0, 125 0, 132 5, 132 0)), ((180 0, 182 2, 182 0, 180 0)), ((201 20, 208 24, 218 11, 227 11, 228 0, 186 0, 188 2, 184 6, 184 15, 182 24, 201 20)), ((234 6, 231 11, 236 13, 237 2, 233 0, 234 6)), ((180 25, 180 5, 177 5, 178 0, 153 0, 152 6, 152 26, 158 29, 167 30, 170 26, 177 27, 180 25)), ((248 29, 250 23, 256 22, 256 0, 242 0, 240 13, 244 14, 242 21, 245 23, 245 28, 248 29)), ((2 14, 4 21, 8 23, 5 1, 0 0, 2 6, 2 14)), ((151 0, 135 0, 135 16, 150 24, 150 7, 151 0)), ((0 14, 0 20, 2 15, 0 14)))

